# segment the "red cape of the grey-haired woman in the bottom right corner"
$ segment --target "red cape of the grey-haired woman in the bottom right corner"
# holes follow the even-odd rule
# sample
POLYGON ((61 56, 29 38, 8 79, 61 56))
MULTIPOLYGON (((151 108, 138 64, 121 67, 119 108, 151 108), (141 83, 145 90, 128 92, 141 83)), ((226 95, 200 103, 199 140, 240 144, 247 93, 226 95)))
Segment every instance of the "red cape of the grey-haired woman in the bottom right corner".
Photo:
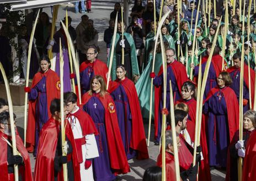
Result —
POLYGON ((243 162, 243 181, 256 180, 256 131, 254 130, 247 141, 246 155, 243 162))

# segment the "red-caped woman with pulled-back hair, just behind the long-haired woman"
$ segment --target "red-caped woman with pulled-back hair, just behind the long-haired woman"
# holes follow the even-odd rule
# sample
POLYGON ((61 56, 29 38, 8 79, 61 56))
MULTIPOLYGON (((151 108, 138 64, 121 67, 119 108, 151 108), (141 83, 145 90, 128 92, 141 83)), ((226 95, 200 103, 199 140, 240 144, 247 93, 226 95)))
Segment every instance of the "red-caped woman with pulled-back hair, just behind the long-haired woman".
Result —
POLYGON ((116 67, 116 79, 109 89, 118 116, 122 143, 127 160, 137 155, 138 159, 149 158, 140 103, 134 83, 126 78, 124 65, 116 67))

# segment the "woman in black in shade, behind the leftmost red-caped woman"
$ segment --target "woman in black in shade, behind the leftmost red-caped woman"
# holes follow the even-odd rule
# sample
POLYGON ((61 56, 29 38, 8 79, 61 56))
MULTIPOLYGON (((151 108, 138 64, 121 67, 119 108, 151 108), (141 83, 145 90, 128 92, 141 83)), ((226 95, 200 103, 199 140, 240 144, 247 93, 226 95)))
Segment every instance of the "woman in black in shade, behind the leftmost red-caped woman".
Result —
POLYGON ((42 12, 39 17, 38 25, 35 29, 35 45, 38 48, 39 55, 42 56, 44 50, 44 45, 46 40, 50 36, 49 29, 51 28, 51 23, 49 21, 49 15, 45 12, 42 12))

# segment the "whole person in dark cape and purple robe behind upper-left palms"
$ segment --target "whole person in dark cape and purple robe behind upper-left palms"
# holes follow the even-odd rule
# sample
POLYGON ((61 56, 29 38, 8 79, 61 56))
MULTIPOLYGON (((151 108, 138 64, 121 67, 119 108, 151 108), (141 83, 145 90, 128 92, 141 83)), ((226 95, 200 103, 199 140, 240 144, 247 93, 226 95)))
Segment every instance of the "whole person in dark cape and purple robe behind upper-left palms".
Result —
POLYGON ((60 76, 60 40, 63 54, 63 92, 71 91, 71 81, 70 81, 70 62, 68 57, 68 42, 63 30, 62 24, 60 23, 60 30, 56 31, 54 34, 54 40, 50 41, 49 49, 52 46, 52 53, 54 53, 55 67, 52 67, 53 70, 60 76))

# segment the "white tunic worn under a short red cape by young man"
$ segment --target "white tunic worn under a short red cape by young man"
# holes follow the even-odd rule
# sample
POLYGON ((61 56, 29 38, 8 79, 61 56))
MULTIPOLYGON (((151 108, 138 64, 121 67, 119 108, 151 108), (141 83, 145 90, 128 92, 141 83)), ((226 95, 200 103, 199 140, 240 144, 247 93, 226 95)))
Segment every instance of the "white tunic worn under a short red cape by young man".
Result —
MULTIPOLYGON (((78 111, 79 107, 76 106, 76 111, 72 113, 76 113, 78 111)), ((82 138, 82 128, 79 123, 79 120, 71 116, 68 118, 68 122, 71 124, 71 128, 73 131, 74 139, 82 138), (72 121, 73 120, 73 121, 72 121)), ((84 168, 84 162, 86 159, 95 158, 99 156, 97 142, 95 140, 94 134, 88 134, 86 137, 86 144, 82 145, 82 154, 83 154, 83 163, 80 163, 80 175, 81 175, 81 181, 92 181, 93 179, 93 168, 90 166, 88 169, 84 168)))

